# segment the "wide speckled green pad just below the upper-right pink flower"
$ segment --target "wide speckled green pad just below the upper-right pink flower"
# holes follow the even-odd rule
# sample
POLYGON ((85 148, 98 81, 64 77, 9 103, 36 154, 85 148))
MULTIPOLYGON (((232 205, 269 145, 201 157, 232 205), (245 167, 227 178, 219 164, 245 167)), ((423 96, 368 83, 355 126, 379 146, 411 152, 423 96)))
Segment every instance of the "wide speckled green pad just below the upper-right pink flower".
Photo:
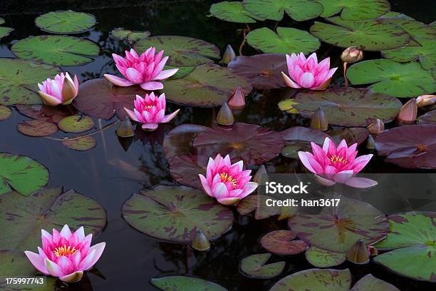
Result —
POLYGON ((335 126, 369 126, 375 118, 392 121, 402 106, 397 98, 351 87, 303 91, 293 101, 296 103, 293 107, 305 118, 311 118, 322 108, 328 123, 335 126))

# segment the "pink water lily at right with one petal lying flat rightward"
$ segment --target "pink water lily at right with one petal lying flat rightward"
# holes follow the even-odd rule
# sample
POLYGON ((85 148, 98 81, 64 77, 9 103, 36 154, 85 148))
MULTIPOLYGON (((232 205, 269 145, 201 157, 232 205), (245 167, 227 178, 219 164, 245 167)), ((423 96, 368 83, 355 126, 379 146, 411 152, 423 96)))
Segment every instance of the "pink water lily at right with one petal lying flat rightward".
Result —
POLYGON ((315 173, 318 181, 323 185, 344 183, 355 188, 367 188, 377 185, 377 182, 368 178, 355 177, 365 167, 373 155, 358 154, 357 143, 348 147, 345 140, 336 148, 330 138, 324 140, 323 148, 316 143, 311 143, 312 152, 299 151, 301 163, 315 173))

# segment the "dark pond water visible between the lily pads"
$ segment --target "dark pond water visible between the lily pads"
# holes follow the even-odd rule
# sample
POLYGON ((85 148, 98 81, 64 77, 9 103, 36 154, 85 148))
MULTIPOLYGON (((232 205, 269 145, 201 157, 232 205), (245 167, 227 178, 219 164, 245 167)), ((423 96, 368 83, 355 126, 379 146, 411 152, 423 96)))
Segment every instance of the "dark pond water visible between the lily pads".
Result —
MULTIPOLYGON (((8 2, 8 1, 6 1, 8 2)), ((94 14, 98 24, 91 31, 81 36, 99 44, 102 56, 85 66, 66 67, 71 73, 76 73, 80 80, 87 81, 100 78, 103 73, 115 73, 111 53, 122 54, 127 44, 109 37, 109 32, 115 27, 125 27, 133 30, 149 30, 152 35, 182 35, 204 39, 217 45, 222 51, 227 44, 239 47, 241 35, 237 33, 242 25, 231 24, 207 17, 209 6, 214 1, 169 1, 167 3, 141 4, 133 6, 108 6, 104 8, 91 7, 87 4, 58 4, 58 6, 23 6, 26 14, 20 14, 19 8, 9 1, 10 10, 0 11, 0 16, 14 27, 11 36, 1 39, 0 57, 12 57, 9 50, 16 39, 24 39, 30 35, 43 34, 33 23, 34 18, 47 11, 61 9, 83 9, 94 14)), ((75 1, 81 2, 81 1, 75 1)), ((82 1, 87 2, 87 1, 82 1)), ((436 19, 435 1, 403 0, 390 1, 393 11, 400 11, 413 18, 429 23, 436 19)), ((47 1, 48 3, 48 1, 47 1)), ((92 3, 92 2, 90 2, 92 3)), ((297 28, 308 30, 312 21, 296 24, 297 28)), ((271 22, 274 26, 274 23, 271 22)), ((285 24, 294 24, 286 19, 285 24)), ((256 26, 254 26, 256 27, 256 26)), ((244 53, 254 53, 246 46, 244 53)), ((322 58, 332 56, 332 66, 341 66, 338 56, 340 48, 331 48, 323 44, 322 58)), ((378 57, 378 53, 368 53, 368 58, 378 57)), ((343 79, 337 74, 333 83, 341 83, 343 79)), ((256 123, 276 130, 283 130, 294 125, 307 126, 307 120, 279 111, 277 103, 284 98, 286 90, 252 93, 244 111, 238 113, 238 121, 256 123)), ((167 169, 167 160, 162 152, 162 139, 165 132, 182 123, 198 123, 211 126, 214 123, 217 109, 189 108, 169 105, 170 110, 182 108, 171 125, 160 126, 151 134, 140 134, 125 150, 120 145, 115 128, 111 127, 95 134, 97 146, 92 150, 77 152, 69 150, 58 141, 48 138, 29 138, 16 131, 16 124, 27 118, 14 110, 13 116, 0 123, 0 152, 28 155, 46 165, 50 170, 48 187, 62 185, 64 189, 75 189, 88 195, 100 203, 108 214, 108 224, 95 242, 107 242, 103 256, 97 264, 103 277, 93 274, 80 283, 65 285, 62 290, 155 290, 150 285, 152 277, 162 275, 192 275, 201 277, 227 287, 228 290, 268 290, 278 280, 251 280, 239 273, 239 260, 246 255, 262 252, 259 238, 270 230, 286 228, 275 219, 254 220, 251 216, 240 217, 235 212, 237 221, 232 230, 216 242, 213 250, 205 254, 193 252, 187 245, 162 242, 147 237, 131 228, 121 216, 121 207, 132 193, 142 188, 150 188, 158 184, 171 184, 167 169)), ((102 126, 112 123, 100 121, 102 126)), ((98 121, 96 125, 98 126, 98 121)), ((58 133, 56 138, 65 134, 58 133)), ((363 152, 365 151, 362 149, 363 152)), ((365 171, 368 173, 405 173, 409 170, 399 168, 389 163, 382 163, 383 158, 373 158, 365 171)), ((279 156, 270 161, 268 170, 281 172, 303 170, 295 160, 279 156)), ((418 173, 420 171, 414 171, 418 173)), ((430 210, 430 209, 429 209, 430 210)), ((289 257, 274 256, 274 260, 286 260, 284 274, 311 268, 304 255, 289 257)), ((375 264, 356 266, 344 263, 340 268, 351 268, 353 282, 367 273, 372 273, 382 280, 392 283, 400 290, 431 290, 430 283, 408 280, 393 275, 383 267, 375 264)), ((281 275, 283 277, 284 275, 281 275)), ((61 285, 61 284, 60 284, 61 285)))

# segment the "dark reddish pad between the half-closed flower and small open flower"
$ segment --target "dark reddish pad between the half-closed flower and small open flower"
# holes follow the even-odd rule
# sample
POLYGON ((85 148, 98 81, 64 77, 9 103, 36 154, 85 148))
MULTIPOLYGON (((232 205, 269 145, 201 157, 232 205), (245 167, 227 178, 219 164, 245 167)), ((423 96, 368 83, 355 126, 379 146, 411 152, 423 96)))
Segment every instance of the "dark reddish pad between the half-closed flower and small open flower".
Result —
POLYGON ((145 93, 139 86, 112 86, 105 79, 98 78, 81 84, 73 105, 88 116, 110 119, 116 113, 123 120, 127 116, 124 107, 133 109, 135 96, 145 96, 145 93))

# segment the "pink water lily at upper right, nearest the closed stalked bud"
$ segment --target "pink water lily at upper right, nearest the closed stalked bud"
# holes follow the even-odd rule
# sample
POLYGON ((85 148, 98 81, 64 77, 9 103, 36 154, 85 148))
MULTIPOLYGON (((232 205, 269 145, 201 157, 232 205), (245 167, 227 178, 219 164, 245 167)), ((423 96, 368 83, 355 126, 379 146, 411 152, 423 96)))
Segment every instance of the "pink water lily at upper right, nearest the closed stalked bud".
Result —
POLYGON ((330 84, 331 76, 337 68, 330 68, 330 58, 324 58, 318 63, 316 53, 306 58, 303 53, 286 55, 289 76, 281 72, 286 85, 291 88, 309 88, 324 90, 330 84), (289 78, 290 77, 290 78, 289 78))

